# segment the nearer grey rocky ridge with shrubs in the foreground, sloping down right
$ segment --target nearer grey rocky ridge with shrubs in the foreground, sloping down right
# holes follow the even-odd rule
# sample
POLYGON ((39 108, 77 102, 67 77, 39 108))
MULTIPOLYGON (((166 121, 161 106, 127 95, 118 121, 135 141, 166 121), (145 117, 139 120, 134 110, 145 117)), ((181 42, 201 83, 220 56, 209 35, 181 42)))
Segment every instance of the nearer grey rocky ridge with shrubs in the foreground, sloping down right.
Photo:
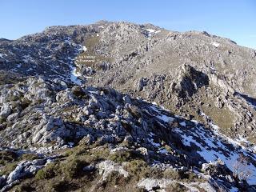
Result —
POLYGON ((206 129, 110 88, 27 78, 1 87, 1 105, 2 191, 15 185, 16 190, 49 190, 55 186, 41 189, 38 182, 60 175, 70 183, 69 190, 112 191, 113 186, 102 182, 113 179, 108 177, 113 171, 126 178, 132 191, 254 190, 249 186, 256 181, 254 149, 219 134, 214 124, 212 130, 206 129), (141 164, 146 173, 137 175, 133 169, 141 164), (67 167, 49 168, 53 165, 67 167), (69 175, 70 171, 74 173, 69 175), (84 179, 87 172, 96 177, 91 184, 78 186, 70 179, 84 179), (169 186, 174 184, 180 186, 169 186))

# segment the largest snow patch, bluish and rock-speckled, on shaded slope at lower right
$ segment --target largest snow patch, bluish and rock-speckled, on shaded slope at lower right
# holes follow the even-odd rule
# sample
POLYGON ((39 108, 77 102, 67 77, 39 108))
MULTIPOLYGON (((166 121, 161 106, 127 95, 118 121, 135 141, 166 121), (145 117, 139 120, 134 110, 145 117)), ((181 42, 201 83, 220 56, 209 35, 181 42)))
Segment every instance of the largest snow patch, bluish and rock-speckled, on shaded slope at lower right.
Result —
MULTIPOLYGON (((231 171, 233 171, 234 164, 238 161, 240 154, 244 154, 246 156, 251 154, 250 157, 256 161, 254 153, 250 153, 251 151, 246 147, 240 147, 239 143, 233 139, 220 134, 218 129, 210 131, 206 130, 202 126, 194 126, 191 130, 185 131, 182 129, 175 129, 174 131, 182 137, 182 143, 185 146, 191 146, 191 142, 198 146, 201 150, 197 153, 200 154, 206 162, 214 162, 219 158, 225 162, 226 166, 231 171), (226 144, 230 144, 231 148, 226 144)), ((250 178, 247 179, 247 182, 250 185, 255 185, 256 167, 251 162, 248 162, 246 169, 251 172, 250 178)))

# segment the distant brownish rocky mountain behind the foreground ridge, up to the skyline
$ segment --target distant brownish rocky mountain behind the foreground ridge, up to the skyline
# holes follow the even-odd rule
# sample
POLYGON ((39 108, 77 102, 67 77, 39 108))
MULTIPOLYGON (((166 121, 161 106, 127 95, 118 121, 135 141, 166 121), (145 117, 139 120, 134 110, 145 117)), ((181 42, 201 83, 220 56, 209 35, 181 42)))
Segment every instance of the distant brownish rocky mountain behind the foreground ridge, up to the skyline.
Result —
POLYGON ((2 39, 0 54, 2 70, 110 86, 255 142, 256 54, 230 39, 102 21, 2 39))

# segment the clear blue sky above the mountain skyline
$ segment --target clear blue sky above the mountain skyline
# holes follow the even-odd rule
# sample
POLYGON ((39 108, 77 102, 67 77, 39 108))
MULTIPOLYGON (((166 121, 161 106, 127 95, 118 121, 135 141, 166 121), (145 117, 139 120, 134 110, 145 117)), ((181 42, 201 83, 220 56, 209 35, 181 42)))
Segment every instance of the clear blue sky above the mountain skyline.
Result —
POLYGON ((254 0, 0 0, 0 8, 0 38, 104 19, 150 22, 168 30, 206 30, 256 49, 254 0))

